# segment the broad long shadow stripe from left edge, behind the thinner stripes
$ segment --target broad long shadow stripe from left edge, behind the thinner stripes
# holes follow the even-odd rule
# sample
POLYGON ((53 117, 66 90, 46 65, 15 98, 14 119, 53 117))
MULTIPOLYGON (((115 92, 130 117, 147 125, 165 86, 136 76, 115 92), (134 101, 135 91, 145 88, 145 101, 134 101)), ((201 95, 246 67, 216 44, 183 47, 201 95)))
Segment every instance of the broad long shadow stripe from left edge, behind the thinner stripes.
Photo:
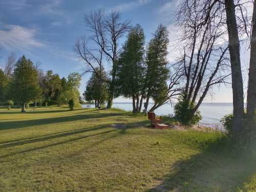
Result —
POLYGON ((115 114, 98 113, 98 114, 80 114, 80 115, 72 115, 72 116, 53 117, 53 118, 45 118, 45 119, 32 119, 32 120, 24 120, 24 121, 7 121, 7 122, 0 122, 0 131, 10 130, 10 129, 20 129, 20 128, 25 128, 30 126, 44 125, 44 124, 51 124, 51 123, 106 118, 106 117, 118 116, 118 115, 119 115, 118 113, 115 113, 115 114))

